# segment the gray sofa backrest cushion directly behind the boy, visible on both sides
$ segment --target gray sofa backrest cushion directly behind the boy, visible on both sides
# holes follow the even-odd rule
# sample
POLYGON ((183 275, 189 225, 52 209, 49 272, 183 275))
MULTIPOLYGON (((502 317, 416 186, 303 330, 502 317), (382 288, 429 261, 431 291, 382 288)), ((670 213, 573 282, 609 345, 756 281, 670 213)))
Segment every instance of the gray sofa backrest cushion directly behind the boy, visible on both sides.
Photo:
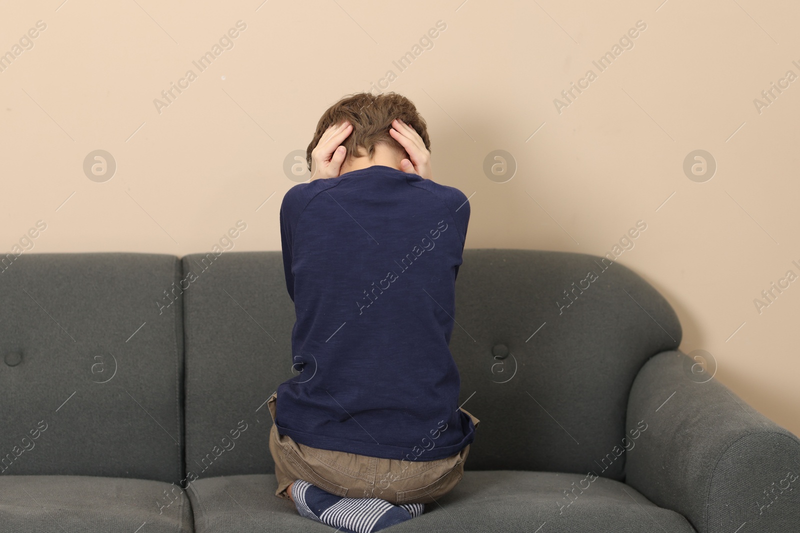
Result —
MULTIPOLYGON (((183 265, 196 277, 183 293, 187 475, 272 472, 264 402, 293 376, 281 253, 192 255, 183 265)), ((681 340, 650 284, 586 254, 468 249, 455 320, 461 401, 481 420, 467 470, 622 479, 631 384, 681 340)))

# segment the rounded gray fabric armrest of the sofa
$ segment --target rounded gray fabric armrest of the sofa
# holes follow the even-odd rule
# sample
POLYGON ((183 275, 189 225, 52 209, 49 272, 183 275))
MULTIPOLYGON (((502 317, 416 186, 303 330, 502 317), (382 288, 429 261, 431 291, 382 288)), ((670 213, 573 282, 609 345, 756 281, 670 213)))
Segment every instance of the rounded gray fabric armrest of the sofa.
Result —
POLYGON ((693 379, 694 363, 662 352, 638 372, 626 483, 698 533, 800 531, 800 440, 718 380, 693 379))

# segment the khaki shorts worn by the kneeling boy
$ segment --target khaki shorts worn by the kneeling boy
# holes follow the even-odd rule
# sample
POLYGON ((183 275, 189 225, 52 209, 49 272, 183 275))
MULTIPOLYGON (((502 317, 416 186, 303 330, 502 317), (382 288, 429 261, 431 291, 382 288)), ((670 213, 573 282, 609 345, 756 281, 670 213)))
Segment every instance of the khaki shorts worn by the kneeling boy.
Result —
MULTIPOLYGON (((267 400, 273 423, 277 398, 275 392, 267 400)), ((478 428, 480 420, 466 410, 462 411, 478 428)), ((380 498, 395 505, 431 503, 461 481, 469 452, 470 445, 467 444, 457 454, 433 461, 384 459, 299 444, 288 435, 280 435, 275 424, 270 431, 270 453, 275 461, 275 477, 278 478, 275 495, 283 499, 289 499, 286 487, 295 479, 304 479, 338 496, 380 498)))

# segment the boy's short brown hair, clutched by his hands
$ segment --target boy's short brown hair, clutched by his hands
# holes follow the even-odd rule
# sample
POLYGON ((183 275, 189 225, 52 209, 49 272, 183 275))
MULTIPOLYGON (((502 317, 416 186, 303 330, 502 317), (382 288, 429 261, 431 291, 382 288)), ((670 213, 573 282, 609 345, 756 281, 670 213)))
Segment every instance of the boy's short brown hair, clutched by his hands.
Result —
POLYGON ((398 93, 354 93, 343 97, 322 114, 317 123, 317 131, 306 149, 306 161, 311 169, 311 151, 316 148, 322 134, 331 125, 350 121, 353 131, 342 143, 347 149, 347 159, 354 157, 373 157, 375 145, 386 145, 396 150, 402 157, 408 153, 398 141, 389 134, 392 121, 398 118, 414 128, 425 147, 430 151, 430 139, 425 120, 417 113, 411 101, 398 93))

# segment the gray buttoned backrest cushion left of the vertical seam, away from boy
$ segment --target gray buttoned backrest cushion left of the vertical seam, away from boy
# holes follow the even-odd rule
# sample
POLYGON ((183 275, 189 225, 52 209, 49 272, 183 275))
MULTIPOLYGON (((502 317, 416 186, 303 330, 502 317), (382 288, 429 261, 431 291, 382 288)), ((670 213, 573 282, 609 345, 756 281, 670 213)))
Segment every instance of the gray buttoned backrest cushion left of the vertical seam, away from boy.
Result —
POLYGON ((182 478, 182 308, 156 305, 179 272, 173 256, 70 253, 0 274, 0 477, 182 478))

